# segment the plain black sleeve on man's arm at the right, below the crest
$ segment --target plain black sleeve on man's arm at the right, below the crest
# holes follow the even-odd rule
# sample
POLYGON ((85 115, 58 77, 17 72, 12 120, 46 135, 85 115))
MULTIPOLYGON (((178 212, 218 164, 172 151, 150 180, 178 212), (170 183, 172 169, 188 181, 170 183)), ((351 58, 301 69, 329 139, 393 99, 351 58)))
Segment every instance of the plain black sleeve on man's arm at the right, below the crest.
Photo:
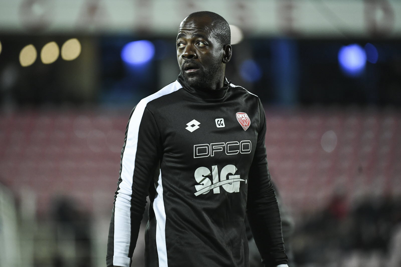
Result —
POLYGON ((266 267, 287 264, 281 219, 275 192, 267 168, 265 112, 259 100, 260 130, 249 170, 247 216, 255 243, 266 267))

